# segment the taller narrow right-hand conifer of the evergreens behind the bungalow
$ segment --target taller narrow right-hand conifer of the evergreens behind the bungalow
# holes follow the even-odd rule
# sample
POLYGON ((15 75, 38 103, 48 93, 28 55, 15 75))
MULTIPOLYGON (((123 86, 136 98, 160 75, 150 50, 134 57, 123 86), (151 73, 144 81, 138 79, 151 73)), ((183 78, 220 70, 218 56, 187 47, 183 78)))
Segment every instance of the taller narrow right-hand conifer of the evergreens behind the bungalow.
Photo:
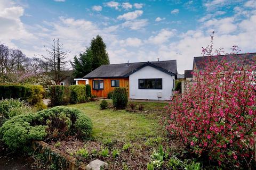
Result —
POLYGON ((109 56, 106 50, 106 44, 103 42, 102 37, 99 35, 91 40, 91 47, 93 62, 92 70, 97 69, 103 64, 109 64, 109 56))

